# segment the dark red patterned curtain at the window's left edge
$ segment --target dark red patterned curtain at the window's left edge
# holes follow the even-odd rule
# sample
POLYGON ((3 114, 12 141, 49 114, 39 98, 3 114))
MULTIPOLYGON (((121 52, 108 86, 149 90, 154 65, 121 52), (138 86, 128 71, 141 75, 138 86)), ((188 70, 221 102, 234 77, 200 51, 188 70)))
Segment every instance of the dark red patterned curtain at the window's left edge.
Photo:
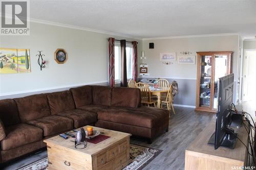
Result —
POLYGON ((115 38, 109 38, 109 85, 115 86, 115 38))

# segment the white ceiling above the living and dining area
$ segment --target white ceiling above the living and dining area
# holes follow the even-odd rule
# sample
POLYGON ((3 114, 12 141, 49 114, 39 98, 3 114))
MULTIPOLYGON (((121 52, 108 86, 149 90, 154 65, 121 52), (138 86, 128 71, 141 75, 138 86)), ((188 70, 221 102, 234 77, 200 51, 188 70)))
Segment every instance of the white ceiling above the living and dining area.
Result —
POLYGON ((31 18, 150 38, 256 35, 256 1, 30 1, 31 18))

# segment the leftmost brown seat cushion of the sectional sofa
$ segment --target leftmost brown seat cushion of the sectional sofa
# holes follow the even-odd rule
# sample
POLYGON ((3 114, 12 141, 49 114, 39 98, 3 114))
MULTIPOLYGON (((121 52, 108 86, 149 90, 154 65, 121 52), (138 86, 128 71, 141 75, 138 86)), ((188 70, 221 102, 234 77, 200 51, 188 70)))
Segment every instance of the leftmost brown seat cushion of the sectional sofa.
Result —
POLYGON ((1 149, 6 151, 42 139, 40 128, 27 124, 17 124, 6 128, 6 137, 1 141, 1 149))

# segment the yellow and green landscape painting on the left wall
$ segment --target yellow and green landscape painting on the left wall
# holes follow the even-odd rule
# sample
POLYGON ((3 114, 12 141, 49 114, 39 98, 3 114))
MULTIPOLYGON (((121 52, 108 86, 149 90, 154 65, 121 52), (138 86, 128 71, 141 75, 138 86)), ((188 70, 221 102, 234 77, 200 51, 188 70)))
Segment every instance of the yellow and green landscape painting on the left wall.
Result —
POLYGON ((31 72, 29 49, 0 48, 0 74, 31 72))

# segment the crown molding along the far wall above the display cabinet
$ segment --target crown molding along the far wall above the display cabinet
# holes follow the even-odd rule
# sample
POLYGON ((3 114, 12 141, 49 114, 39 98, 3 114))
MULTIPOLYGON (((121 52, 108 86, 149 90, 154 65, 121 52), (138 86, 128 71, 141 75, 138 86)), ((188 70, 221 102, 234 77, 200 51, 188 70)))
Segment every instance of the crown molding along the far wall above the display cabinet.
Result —
POLYGON ((194 37, 212 37, 212 36, 230 36, 230 35, 237 35, 237 36, 239 36, 240 33, 184 35, 184 36, 170 36, 170 37, 152 37, 152 38, 142 38, 142 40, 174 39, 174 38, 194 38, 194 37))

